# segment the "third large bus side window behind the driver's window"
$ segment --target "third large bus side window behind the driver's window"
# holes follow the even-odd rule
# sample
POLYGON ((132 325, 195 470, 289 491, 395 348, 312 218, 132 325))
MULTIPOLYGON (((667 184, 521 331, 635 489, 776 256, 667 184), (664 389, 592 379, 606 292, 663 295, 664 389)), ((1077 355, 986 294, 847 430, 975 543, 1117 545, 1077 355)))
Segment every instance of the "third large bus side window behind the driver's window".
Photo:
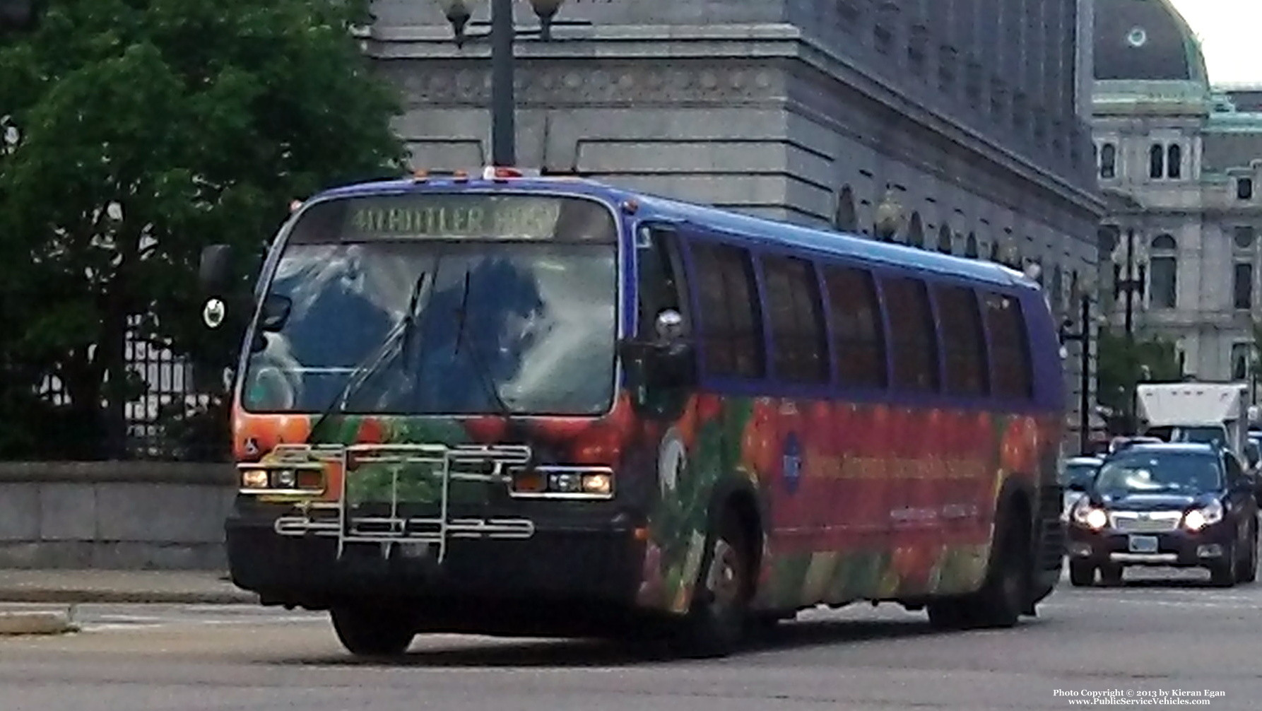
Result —
POLYGON ((833 320, 833 359, 842 385, 885 388, 885 325, 872 273, 851 266, 825 266, 824 284, 833 320))

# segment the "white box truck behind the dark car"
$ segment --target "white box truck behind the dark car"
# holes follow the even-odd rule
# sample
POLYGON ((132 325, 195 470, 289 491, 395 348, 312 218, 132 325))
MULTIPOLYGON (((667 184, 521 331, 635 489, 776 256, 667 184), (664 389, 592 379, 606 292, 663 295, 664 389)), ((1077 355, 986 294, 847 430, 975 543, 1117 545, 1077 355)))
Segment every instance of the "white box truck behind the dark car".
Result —
POLYGON ((1241 383, 1146 383, 1138 386, 1141 432, 1176 442, 1212 442, 1244 461, 1248 386, 1241 383))

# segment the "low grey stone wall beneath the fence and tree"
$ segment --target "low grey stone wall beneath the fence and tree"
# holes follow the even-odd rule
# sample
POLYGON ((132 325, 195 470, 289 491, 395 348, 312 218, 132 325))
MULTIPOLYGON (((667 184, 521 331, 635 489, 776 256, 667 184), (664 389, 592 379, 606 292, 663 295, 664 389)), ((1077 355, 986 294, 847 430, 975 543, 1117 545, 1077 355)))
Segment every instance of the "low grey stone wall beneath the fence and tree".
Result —
POLYGON ((231 465, 0 462, 0 568, 222 570, 231 465))

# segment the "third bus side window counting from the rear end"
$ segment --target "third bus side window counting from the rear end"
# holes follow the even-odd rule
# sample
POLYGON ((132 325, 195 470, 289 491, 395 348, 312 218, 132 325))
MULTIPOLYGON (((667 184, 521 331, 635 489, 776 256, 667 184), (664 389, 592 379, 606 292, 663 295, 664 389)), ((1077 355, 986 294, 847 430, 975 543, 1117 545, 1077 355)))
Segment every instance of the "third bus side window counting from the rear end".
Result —
POLYGON ((893 346, 893 386, 900 390, 936 391, 938 335, 929 308, 929 289, 920 279, 886 277, 881 280, 890 314, 893 346))

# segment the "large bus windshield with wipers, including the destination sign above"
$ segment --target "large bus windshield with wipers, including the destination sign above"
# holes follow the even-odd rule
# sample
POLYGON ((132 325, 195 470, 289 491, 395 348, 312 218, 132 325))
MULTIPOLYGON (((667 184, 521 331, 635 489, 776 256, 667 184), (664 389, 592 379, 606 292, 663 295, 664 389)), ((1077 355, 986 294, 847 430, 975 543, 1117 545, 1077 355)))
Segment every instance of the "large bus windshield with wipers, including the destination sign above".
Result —
POLYGON ((599 414, 612 404, 617 227, 592 200, 318 203, 294 225, 268 294, 289 314, 249 357, 247 410, 319 413, 342 398, 345 412, 376 414, 599 414), (374 357, 392 333, 398 347, 374 357))

